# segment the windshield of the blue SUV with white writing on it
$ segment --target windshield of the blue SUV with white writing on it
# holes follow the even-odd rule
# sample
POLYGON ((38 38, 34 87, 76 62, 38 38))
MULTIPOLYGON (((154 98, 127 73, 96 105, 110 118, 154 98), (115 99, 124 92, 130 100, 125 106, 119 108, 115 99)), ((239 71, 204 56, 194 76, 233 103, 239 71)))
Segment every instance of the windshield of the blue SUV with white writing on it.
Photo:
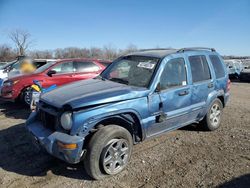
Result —
POLYGON ((126 56, 115 61, 101 76, 126 85, 148 87, 158 62, 154 57, 126 56))

